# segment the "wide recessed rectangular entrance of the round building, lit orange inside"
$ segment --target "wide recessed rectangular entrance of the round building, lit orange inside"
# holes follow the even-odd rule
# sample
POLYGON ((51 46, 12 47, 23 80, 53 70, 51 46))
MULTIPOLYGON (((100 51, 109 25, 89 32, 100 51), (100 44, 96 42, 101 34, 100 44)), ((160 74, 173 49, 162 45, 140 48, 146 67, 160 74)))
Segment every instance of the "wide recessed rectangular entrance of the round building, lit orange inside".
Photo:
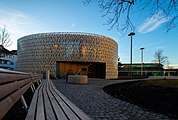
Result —
POLYGON ((56 63, 57 78, 65 78, 67 74, 87 75, 89 78, 106 76, 106 63, 99 62, 60 62, 56 63))

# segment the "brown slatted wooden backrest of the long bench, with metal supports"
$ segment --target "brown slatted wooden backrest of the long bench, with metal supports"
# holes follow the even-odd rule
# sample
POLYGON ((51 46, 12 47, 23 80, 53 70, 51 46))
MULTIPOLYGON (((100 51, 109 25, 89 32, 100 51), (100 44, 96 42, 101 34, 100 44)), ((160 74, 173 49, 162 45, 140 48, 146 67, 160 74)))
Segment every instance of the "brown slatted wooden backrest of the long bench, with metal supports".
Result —
POLYGON ((23 94, 29 88, 34 91, 34 83, 41 79, 38 74, 0 69, 0 120, 20 98, 25 105, 23 94))

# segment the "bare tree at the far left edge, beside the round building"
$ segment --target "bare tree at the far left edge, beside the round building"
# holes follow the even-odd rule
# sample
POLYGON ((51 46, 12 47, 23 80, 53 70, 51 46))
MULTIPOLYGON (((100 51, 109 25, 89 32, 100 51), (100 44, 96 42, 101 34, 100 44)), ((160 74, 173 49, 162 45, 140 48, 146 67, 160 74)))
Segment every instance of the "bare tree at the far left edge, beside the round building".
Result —
POLYGON ((10 34, 8 33, 8 31, 7 31, 5 26, 1 30, 0 45, 2 45, 3 47, 9 47, 10 45, 12 45, 12 41, 10 39, 10 34))

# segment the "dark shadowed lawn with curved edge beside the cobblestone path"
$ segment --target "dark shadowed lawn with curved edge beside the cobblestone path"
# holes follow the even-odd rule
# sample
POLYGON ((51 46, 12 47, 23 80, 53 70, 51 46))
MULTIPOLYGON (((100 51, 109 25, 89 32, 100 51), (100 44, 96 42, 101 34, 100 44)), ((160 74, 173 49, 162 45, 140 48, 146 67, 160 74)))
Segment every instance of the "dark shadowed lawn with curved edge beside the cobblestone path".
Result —
POLYGON ((115 98, 178 119, 178 80, 125 82, 103 90, 115 98))

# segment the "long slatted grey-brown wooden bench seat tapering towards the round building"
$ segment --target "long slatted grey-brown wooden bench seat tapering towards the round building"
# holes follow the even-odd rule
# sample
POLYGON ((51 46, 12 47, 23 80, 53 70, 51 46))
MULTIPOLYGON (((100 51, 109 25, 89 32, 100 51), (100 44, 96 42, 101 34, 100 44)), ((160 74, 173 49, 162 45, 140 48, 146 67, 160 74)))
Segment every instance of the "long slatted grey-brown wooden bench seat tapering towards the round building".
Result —
POLYGON ((26 120, 90 120, 60 93, 51 80, 43 80, 33 96, 26 120))

